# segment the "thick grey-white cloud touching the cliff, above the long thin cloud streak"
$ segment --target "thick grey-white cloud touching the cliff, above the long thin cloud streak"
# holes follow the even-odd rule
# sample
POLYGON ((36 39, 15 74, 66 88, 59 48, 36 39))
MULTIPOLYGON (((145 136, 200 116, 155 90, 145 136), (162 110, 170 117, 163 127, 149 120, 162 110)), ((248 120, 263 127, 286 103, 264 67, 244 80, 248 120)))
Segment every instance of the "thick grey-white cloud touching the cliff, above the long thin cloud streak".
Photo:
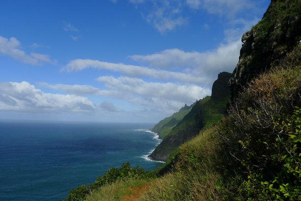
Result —
POLYGON ((200 78, 215 77, 221 71, 231 72, 238 62, 241 41, 220 44, 217 49, 207 52, 185 52, 181 49, 165 49, 152 55, 130 56, 152 66, 164 68, 192 68, 200 78))

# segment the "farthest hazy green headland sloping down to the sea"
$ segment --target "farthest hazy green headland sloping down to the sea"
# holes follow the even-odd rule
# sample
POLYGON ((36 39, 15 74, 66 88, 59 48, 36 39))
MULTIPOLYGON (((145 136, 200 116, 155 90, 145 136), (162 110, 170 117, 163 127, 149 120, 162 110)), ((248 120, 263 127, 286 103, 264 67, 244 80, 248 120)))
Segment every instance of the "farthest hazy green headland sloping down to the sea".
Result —
POLYGON ((175 112, 171 116, 166 117, 157 123, 152 131, 158 133, 159 137, 163 139, 170 133, 172 128, 175 127, 175 125, 177 125, 183 119, 183 117, 190 112, 194 105, 195 103, 191 104, 191 106, 185 105, 179 110, 179 112, 175 112))

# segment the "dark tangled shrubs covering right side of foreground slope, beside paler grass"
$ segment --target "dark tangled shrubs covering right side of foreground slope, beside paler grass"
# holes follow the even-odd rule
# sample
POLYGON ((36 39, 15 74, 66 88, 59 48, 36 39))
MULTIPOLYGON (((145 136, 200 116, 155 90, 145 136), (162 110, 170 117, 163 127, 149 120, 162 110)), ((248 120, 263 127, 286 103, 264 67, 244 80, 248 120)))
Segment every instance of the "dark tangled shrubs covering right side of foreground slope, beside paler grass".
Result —
POLYGON ((217 135, 224 178, 249 200, 299 199, 301 46, 262 74, 231 106, 217 135), (229 171, 231 170, 231 171, 229 171), (232 172, 232 173, 231 173, 232 172))

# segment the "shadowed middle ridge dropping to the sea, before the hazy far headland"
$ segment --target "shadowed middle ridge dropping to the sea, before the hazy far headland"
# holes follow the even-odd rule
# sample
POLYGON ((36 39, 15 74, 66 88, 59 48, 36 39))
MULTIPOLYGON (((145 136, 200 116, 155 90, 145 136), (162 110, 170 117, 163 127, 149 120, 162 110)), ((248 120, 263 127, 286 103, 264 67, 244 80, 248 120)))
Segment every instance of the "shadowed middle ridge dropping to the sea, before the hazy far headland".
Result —
POLYGON ((181 144, 197 135, 200 129, 220 121, 230 98, 230 89, 227 86, 230 77, 229 72, 219 73, 212 86, 213 98, 207 96, 196 102, 149 157, 157 161, 166 161, 181 144))

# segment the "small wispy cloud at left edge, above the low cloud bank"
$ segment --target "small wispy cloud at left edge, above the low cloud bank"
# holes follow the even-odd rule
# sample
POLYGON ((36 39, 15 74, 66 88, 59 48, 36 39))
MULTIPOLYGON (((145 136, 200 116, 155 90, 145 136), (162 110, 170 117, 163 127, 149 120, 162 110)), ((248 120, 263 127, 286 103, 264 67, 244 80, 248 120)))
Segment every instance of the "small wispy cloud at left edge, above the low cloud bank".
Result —
POLYGON ((23 63, 42 65, 43 63, 56 63, 48 55, 38 53, 26 54, 21 50, 21 43, 14 37, 8 39, 0 36, 0 54, 7 55, 23 63))

